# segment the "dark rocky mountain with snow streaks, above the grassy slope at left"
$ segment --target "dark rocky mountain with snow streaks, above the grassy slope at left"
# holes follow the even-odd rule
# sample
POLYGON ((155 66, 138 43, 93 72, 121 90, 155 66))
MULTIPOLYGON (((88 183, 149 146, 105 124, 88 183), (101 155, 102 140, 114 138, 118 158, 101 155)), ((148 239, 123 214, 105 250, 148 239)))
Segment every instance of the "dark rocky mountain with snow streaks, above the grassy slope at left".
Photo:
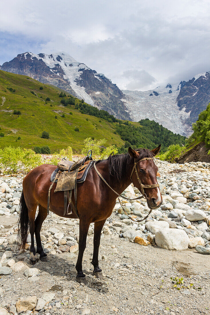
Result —
POLYGON ((117 118, 131 119, 121 100, 124 94, 116 84, 64 52, 50 55, 18 54, 0 69, 53 84, 117 118))

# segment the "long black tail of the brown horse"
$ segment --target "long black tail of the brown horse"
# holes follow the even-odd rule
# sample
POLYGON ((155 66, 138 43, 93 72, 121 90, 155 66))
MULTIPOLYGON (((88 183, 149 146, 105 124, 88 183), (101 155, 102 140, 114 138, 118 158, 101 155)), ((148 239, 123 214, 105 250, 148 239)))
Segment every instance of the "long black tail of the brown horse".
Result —
POLYGON ((22 191, 20 197, 20 212, 18 219, 18 246, 19 248, 25 249, 26 241, 28 237, 28 228, 29 228, 29 218, 28 218, 28 208, 26 206, 26 201, 24 198, 24 193, 22 191))

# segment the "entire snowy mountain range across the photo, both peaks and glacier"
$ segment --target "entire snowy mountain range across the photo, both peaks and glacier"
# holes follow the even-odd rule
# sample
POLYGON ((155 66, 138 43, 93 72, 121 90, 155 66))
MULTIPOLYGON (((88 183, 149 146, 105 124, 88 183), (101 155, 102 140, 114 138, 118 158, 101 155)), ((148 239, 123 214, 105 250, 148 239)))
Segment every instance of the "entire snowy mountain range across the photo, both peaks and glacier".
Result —
POLYGON ((169 83, 141 92, 121 91, 102 73, 64 52, 18 54, 0 69, 53 84, 117 118, 133 121, 149 118, 186 136, 191 134, 192 123, 210 102, 210 72, 200 73, 188 82, 169 83))

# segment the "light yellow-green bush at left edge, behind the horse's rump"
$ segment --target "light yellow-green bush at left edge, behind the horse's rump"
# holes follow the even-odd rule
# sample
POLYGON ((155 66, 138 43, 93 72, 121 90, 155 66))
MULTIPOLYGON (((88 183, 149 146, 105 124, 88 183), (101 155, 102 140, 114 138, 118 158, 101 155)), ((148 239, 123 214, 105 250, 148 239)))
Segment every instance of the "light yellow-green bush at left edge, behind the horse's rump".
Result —
POLYGON ((29 172, 42 164, 42 157, 31 149, 8 146, 0 149, 0 169, 4 174, 29 172))

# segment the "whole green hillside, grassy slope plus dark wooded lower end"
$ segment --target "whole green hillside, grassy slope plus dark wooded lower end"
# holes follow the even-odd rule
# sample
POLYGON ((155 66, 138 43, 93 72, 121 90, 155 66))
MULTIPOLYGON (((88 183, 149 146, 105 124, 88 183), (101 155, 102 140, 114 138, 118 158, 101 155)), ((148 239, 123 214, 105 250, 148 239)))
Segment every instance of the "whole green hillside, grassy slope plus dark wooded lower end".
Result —
POLYGON ((51 152, 71 146, 79 153, 87 137, 105 138, 106 146, 116 145, 119 152, 130 145, 152 149, 160 143, 166 151, 185 141, 154 121, 122 121, 55 86, 1 70, 0 128, 0 148, 47 145, 51 152), (50 139, 41 138, 43 131, 50 139))

